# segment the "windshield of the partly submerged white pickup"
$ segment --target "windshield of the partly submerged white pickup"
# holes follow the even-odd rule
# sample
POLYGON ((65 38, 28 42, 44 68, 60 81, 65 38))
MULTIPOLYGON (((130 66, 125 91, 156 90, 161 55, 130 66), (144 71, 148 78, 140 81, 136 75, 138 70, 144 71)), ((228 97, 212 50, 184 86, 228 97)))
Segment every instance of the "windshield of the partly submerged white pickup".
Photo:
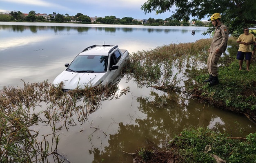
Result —
POLYGON ((108 56, 78 55, 71 62, 67 71, 78 73, 105 73, 107 72, 108 56))

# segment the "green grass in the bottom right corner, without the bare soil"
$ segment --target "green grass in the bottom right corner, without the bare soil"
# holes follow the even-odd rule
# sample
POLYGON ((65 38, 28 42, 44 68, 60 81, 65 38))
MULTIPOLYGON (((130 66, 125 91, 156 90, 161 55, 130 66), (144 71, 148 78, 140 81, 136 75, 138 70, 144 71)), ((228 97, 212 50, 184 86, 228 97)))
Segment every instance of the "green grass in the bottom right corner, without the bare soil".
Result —
POLYGON ((208 128, 190 128, 170 142, 167 150, 170 149, 183 163, 215 163, 213 156, 227 163, 253 163, 256 162, 256 133, 241 141, 208 128))

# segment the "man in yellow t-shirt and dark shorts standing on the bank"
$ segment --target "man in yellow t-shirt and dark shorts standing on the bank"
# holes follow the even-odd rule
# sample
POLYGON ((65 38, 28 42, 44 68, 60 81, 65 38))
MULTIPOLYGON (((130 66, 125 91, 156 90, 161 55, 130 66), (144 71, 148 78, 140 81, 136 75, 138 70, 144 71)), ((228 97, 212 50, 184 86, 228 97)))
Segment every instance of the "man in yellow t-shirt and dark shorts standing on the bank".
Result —
POLYGON ((255 43, 255 37, 252 33, 249 33, 249 28, 243 29, 244 33, 241 34, 236 40, 239 43, 239 49, 236 55, 236 59, 239 60, 239 70, 242 70, 243 60, 246 60, 246 70, 250 71, 249 67, 252 59, 251 44, 255 43))

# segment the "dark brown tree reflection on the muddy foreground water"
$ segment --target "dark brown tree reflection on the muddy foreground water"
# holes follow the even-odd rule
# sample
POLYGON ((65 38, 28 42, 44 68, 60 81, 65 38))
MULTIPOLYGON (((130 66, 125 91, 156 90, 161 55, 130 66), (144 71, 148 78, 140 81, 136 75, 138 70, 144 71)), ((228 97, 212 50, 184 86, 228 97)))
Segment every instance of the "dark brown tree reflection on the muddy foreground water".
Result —
POLYGON ((170 100, 166 95, 151 92, 150 96, 151 100, 145 97, 137 98, 140 104, 138 110, 146 115, 145 118, 134 119, 136 124, 118 123, 118 131, 109 135, 109 145, 103 149, 93 146, 89 150, 94 156, 94 161, 100 162, 104 159, 108 163, 114 160, 132 162, 131 154, 124 154, 124 151, 134 153, 134 149, 149 145, 162 147, 171 137, 189 126, 209 127, 227 132, 233 137, 244 136, 255 130, 255 127, 244 124, 244 118, 232 113, 216 112, 213 108, 202 110, 202 105, 193 100, 189 100, 184 108, 176 103, 176 99, 170 100))

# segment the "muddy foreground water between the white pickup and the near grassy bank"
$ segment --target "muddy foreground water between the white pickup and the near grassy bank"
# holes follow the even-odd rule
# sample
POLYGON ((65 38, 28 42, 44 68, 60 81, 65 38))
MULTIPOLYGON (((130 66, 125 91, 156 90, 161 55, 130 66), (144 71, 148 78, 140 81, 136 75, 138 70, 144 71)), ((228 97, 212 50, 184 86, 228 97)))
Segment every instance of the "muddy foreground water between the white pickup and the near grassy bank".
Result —
POLYGON ((165 93, 140 89, 133 81, 126 83, 122 79, 119 87, 126 86, 131 88, 130 93, 104 101, 89 115, 87 123, 70 127, 69 132, 62 130, 58 152, 76 163, 102 160, 130 163, 132 156, 128 153, 147 145, 163 147, 188 127, 209 127, 232 137, 243 137, 256 130, 247 118, 198 104, 196 100, 180 105, 174 96, 164 101, 165 93))

